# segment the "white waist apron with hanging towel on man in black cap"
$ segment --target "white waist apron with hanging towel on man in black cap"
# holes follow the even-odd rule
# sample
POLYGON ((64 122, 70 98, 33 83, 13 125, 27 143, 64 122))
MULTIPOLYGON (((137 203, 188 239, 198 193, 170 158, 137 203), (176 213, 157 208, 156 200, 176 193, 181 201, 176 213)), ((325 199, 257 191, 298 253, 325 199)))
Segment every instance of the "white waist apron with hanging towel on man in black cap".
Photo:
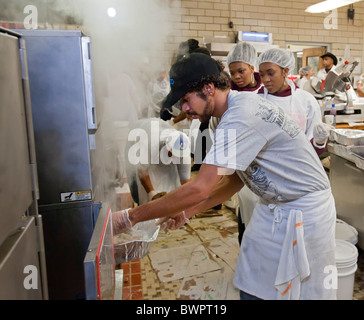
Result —
MULTIPOLYGON (((245 230, 235 286, 262 299, 335 299, 325 286, 335 266, 331 189, 285 204, 260 200, 245 230)), ((332 276, 332 275, 331 275, 332 276)))

